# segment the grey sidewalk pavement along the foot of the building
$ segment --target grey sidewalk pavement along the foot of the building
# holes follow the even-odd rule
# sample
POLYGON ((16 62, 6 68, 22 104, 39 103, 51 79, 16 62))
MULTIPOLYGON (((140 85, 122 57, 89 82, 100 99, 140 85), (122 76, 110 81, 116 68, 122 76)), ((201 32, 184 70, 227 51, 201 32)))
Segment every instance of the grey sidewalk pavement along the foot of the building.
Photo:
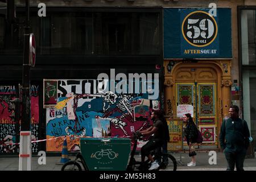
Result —
MULTIPOLYGON (((197 152, 196 156, 196 167, 187 167, 187 163, 191 161, 188 154, 176 153, 172 154, 175 156, 178 164, 177 171, 225 171, 226 170, 226 159, 222 152, 217 152, 217 164, 210 165, 208 160, 210 156, 208 152, 197 152), (181 161, 180 161, 181 159, 181 161)), ((74 159, 75 156, 69 157, 74 159)), ((139 155, 136 158, 140 158, 139 155)), ((33 171, 60 171, 62 165, 60 163, 61 157, 46 157, 46 165, 38 164, 38 157, 32 158, 32 170, 33 171)), ((256 158, 245 159, 244 168, 246 171, 256 171, 256 158)), ((18 171, 19 169, 19 158, 0 158, 0 171, 18 171)))

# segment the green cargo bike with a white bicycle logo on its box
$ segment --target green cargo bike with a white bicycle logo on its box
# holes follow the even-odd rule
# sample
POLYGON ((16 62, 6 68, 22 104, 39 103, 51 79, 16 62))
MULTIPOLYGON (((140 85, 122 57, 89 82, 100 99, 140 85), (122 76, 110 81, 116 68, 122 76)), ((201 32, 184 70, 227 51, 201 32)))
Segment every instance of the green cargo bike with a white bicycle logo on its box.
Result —
MULTIPOLYGON (((81 138, 81 152, 76 155, 75 160, 63 165, 61 171, 147 171, 150 168, 150 160, 144 163, 135 159, 138 135, 133 134, 132 140, 129 138, 81 138), (133 149, 131 149, 133 141, 133 149), (130 155, 130 158, 129 158, 130 155), (139 168, 141 164, 144 168, 139 168)), ((156 154, 152 151, 152 156, 159 163, 160 169, 176 171, 177 162, 171 154, 160 152, 156 154)))

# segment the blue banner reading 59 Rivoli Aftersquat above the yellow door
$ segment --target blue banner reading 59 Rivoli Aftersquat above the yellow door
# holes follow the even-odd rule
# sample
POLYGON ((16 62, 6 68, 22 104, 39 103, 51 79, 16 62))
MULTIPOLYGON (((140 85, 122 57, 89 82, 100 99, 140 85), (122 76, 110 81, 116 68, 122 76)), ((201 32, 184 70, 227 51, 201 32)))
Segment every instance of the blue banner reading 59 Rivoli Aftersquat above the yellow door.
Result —
POLYGON ((164 59, 232 58, 231 9, 164 8, 164 59))

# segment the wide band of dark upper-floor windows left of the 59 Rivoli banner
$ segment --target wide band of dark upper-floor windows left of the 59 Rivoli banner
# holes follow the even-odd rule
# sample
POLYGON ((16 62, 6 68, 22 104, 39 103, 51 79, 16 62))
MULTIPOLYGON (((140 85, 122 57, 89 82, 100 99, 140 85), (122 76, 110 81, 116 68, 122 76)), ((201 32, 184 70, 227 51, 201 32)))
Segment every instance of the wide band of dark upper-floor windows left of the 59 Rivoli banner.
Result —
MULTIPOLYGON (((11 27, 0 18, 1 55, 22 55, 24 12, 11 27)), ((159 13, 30 14, 37 55, 159 55, 159 13)))

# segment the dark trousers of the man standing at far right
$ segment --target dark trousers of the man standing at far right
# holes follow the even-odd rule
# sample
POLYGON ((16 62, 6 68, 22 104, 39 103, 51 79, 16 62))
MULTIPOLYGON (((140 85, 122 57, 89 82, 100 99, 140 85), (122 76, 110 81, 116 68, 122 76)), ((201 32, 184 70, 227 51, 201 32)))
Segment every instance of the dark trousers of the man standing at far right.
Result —
POLYGON ((226 160, 228 162, 227 171, 234 171, 234 167, 236 164, 237 171, 244 171, 243 170, 243 162, 245 161, 246 149, 239 152, 229 152, 224 151, 226 156, 226 160))

